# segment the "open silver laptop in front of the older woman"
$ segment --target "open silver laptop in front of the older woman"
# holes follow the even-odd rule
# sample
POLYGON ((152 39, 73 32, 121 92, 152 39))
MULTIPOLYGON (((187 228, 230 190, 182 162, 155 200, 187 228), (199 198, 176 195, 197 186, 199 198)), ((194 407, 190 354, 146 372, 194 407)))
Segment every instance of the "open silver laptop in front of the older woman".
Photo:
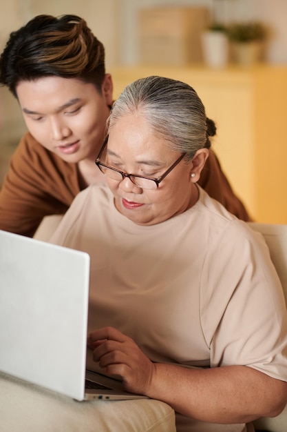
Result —
POLYGON ((88 302, 87 253, 0 230, 0 371, 79 401, 145 397, 86 371, 88 302))

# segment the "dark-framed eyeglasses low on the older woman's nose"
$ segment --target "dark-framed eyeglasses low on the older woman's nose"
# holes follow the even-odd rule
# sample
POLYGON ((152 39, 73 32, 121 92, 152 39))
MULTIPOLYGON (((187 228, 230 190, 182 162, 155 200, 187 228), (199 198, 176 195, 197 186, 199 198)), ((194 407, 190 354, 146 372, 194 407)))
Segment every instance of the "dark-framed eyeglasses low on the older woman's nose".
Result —
POLYGON ((158 185, 160 184, 160 181, 162 181, 167 175, 173 170, 173 168, 176 168, 176 166, 180 163, 180 161, 185 156, 185 153, 182 153, 178 159, 171 165, 171 167, 165 171, 158 179, 150 179, 149 177, 143 177, 142 175, 134 175, 134 174, 126 174, 123 173, 123 171, 116 170, 116 168, 112 168, 111 166, 108 166, 106 164, 102 164, 100 161, 100 157, 103 154, 103 150, 105 149, 105 146, 107 145, 107 139, 105 139, 105 142, 100 149, 100 153, 98 153, 98 157, 95 160, 96 166, 102 171, 103 174, 105 174, 107 177, 113 180, 117 181, 123 181, 125 177, 128 177, 132 183, 134 183, 136 186, 143 188, 143 189, 151 189, 156 190, 158 188, 158 185))

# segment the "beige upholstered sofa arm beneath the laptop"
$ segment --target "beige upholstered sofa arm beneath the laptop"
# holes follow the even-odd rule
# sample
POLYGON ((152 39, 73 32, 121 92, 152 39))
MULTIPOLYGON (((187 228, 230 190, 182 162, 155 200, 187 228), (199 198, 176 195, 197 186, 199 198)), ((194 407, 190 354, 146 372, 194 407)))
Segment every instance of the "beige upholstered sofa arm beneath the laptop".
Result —
POLYGON ((151 399, 77 402, 0 373, 5 432, 176 432, 173 409, 151 399))

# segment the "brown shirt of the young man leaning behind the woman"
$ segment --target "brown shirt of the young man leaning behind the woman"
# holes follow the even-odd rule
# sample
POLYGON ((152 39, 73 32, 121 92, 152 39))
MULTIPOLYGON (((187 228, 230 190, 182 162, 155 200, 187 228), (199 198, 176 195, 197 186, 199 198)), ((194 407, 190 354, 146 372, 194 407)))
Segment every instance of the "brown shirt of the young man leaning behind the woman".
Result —
MULTIPOLYGON (((199 184, 230 213, 251 220, 213 152, 199 184)), ((77 164, 63 161, 27 132, 12 156, 0 191, 0 229, 32 237, 43 217, 65 213, 83 188, 77 164)))

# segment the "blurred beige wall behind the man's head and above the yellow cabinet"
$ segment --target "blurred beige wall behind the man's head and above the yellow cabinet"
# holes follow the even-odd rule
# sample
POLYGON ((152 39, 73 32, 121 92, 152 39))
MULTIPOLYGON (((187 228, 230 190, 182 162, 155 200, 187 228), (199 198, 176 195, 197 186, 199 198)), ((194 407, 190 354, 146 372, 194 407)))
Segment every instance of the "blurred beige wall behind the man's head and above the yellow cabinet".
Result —
MULTIPOLYGON (((12 30, 36 14, 79 14, 106 48, 107 69, 139 61, 138 12, 151 6, 206 6, 217 21, 256 19, 272 28, 266 50, 270 63, 287 63, 286 0, 10 0, 0 3, 0 50, 12 30)), ((0 88, 0 148, 25 126, 6 88, 0 88)), ((3 153, 4 150, 2 150, 3 153)))

